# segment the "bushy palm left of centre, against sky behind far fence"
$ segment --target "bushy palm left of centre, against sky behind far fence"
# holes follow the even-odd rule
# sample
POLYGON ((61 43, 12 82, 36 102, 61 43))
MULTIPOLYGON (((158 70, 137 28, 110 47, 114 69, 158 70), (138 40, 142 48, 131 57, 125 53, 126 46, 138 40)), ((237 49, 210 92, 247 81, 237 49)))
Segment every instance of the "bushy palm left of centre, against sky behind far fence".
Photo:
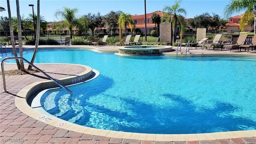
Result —
POLYGON ((63 19, 67 25, 68 25, 68 29, 70 30, 70 36, 71 36, 71 39, 72 39, 72 35, 73 35, 73 26, 76 25, 77 23, 77 19, 76 19, 76 13, 78 12, 78 9, 77 8, 73 8, 73 9, 70 9, 70 8, 67 8, 67 7, 64 7, 64 10, 57 10, 55 12, 55 16, 56 18, 59 18, 60 19, 63 19))

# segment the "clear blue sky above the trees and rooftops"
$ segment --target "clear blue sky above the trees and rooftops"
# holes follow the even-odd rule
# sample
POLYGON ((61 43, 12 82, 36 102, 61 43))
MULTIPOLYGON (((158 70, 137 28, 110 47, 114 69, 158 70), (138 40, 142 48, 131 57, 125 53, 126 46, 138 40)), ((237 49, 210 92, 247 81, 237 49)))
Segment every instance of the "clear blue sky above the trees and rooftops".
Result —
MULTIPOLYGON (((164 6, 171 6, 174 0, 146 0, 146 13, 151 13, 157 10, 163 11, 164 6)), ((223 10, 228 5, 230 0, 182 0, 180 7, 187 11, 185 18, 194 18, 196 15, 208 12, 218 14, 221 18, 223 10)), ((29 4, 34 4, 34 12, 37 11, 37 0, 20 0, 20 14, 24 14, 25 18, 28 14, 32 14, 32 7, 29 4)), ((0 12, 0 16, 8 16, 6 0, 0 0, 0 6, 6 11, 0 12)), ((78 8, 78 15, 100 12, 102 16, 108 14, 111 10, 121 10, 124 13, 131 15, 144 14, 144 0, 40 0, 40 15, 44 16, 46 21, 58 21, 54 16, 56 10, 62 10, 63 7, 78 8)), ((10 9, 12 17, 17 17, 16 1, 10 0, 10 9)), ((244 11, 233 14, 232 16, 243 14, 244 11)))

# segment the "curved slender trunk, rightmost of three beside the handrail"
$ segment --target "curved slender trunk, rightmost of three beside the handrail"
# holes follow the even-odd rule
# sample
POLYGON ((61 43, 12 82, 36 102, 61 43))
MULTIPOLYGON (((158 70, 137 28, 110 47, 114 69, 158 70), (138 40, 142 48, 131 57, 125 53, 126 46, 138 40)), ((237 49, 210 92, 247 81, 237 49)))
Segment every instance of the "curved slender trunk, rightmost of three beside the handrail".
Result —
MULTIPOLYGON (((37 21, 40 21, 40 0, 37 0, 37 21)), ((35 58, 36 58, 36 53, 39 45, 39 37, 40 37, 40 22, 36 23, 36 45, 34 49, 34 54, 31 59, 31 63, 34 64, 35 58)), ((32 66, 28 66, 28 70, 32 70, 32 66)))

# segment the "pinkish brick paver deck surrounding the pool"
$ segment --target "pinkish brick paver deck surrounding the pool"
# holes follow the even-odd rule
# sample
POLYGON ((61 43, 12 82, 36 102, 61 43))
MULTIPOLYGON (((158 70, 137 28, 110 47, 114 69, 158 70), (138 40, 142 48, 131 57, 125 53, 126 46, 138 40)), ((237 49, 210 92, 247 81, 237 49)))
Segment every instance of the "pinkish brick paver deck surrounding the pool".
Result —
MULTIPOLYGON (((33 46, 26 46, 33 47, 33 46)), ((49 46, 40 46, 49 47, 49 46)), ((51 46, 52 47, 52 46, 51 46)), ((57 47, 57 46, 56 46, 57 47)), ((81 47, 81 46, 76 46, 81 47)), ((118 50, 118 47, 96 47, 97 49, 118 50)), ((175 48, 174 48, 175 49, 175 48)), ((208 50, 191 50, 190 53, 216 53, 208 50), (192 52, 193 51, 193 52, 192 52)), ((176 52, 172 52, 176 53, 176 52)), ((217 53, 230 53, 222 51, 217 53)), ((238 53, 237 51, 231 53, 238 53)), ((247 53, 247 52, 239 52, 247 53)), ((255 51, 250 51, 256 54, 255 51)), ((70 75, 77 75, 84 72, 85 68, 73 64, 35 64, 43 69, 47 74, 55 79, 65 78, 70 75)), ((27 66, 25 65, 27 68, 27 66)), ((16 64, 5 63, 5 70, 17 69, 16 64)), ((201 141, 174 141, 174 140, 129 140, 123 138, 111 138, 97 136, 92 134, 83 134, 65 130, 55 126, 48 125, 38 121, 17 109, 14 99, 19 97, 17 93, 33 82, 48 80, 43 74, 36 73, 36 76, 30 74, 20 76, 6 76, 6 87, 8 92, 2 92, 3 83, 0 79, 0 143, 1 144, 43 144, 43 143, 66 143, 66 144, 256 144, 256 134, 253 137, 241 137, 219 140, 201 140, 201 141)), ((156 138, 155 138, 156 139, 156 138)))

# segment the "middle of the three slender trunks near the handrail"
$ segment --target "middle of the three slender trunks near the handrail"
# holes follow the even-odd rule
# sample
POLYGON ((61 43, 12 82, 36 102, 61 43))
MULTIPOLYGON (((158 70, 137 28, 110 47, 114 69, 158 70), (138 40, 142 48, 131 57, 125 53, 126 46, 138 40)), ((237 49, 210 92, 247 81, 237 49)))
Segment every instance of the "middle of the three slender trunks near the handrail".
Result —
MULTIPOLYGON (((19 0, 16 0, 16 7, 17 7, 17 25, 18 25, 19 50, 20 50, 20 57, 23 57, 23 53, 22 53, 22 31, 21 31, 21 22, 20 22, 19 0)), ((20 60, 20 70, 25 70, 23 60, 20 60)))

